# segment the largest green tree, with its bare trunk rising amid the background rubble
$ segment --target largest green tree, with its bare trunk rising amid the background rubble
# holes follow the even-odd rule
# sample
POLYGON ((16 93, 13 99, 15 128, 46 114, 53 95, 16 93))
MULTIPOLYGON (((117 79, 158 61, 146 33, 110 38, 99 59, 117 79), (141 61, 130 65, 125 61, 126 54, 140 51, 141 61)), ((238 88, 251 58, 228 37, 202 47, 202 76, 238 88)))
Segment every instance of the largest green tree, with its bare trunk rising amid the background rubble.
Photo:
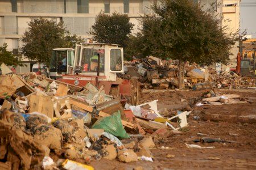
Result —
POLYGON ((185 62, 227 63, 236 35, 226 33, 212 5, 207 11, 191 0, 162 0, 150 6, 154 14, 142 16, 142 54, 179 60, 179 88, 185 62))

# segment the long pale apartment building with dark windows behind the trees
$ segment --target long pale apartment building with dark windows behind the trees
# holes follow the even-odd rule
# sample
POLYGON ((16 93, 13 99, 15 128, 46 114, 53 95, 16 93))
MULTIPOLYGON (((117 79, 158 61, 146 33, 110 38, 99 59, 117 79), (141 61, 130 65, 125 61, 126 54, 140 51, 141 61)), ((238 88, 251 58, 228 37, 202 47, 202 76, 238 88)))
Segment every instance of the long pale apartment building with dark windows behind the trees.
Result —
MULTIPOLYGON (((138 31, 138 18, 143 13, 151 12, 148 7, 156 0, 0 0, 0 44, 8 44, 8 50, 14 53, 22 47, 19 41, 28 28, 31 18, 42 16, 56 22, 62 20, 67 29, 84 39, 89 38, 88 32, 99 12, 112 14, 114 11, 128 14, 134 23, 133 33, 138 31)), ((222 0, 201 0, 195 3, 205 5, 222 0)), ((221 8, 216 7, 217 12, 221 8)), ((24 59, 24 62, 28 62, 24 59)), ((29 63, 29 62, 28 62, 29 63)), ((18 67, 18 72, 31 71, 28 67, 18 67)))

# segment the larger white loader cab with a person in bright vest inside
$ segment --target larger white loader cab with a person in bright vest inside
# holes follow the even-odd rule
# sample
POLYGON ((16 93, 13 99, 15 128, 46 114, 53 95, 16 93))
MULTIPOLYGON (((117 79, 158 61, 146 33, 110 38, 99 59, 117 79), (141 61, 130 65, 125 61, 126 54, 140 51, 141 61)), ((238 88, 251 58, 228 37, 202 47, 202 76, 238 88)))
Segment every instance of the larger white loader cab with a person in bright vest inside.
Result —
POLYGON ((123 48, 117 44, 82 43, 76 45, 75 73, 97 76, 98 57, 100 76, 107 81, 116 81, 116 73, 123 73, 123 48))

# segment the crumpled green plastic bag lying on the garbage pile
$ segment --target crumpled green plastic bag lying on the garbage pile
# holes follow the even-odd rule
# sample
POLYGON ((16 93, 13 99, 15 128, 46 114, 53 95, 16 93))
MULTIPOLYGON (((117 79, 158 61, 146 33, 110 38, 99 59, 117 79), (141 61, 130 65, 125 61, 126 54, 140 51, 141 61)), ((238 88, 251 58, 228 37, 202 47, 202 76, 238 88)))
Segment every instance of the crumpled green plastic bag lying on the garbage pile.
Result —
POLYGON ((130 138, 123 128, 120 111, 113 113, 111 116, 97 120, 92 126, 92 129, 104 129, 115 137, 130 138))

